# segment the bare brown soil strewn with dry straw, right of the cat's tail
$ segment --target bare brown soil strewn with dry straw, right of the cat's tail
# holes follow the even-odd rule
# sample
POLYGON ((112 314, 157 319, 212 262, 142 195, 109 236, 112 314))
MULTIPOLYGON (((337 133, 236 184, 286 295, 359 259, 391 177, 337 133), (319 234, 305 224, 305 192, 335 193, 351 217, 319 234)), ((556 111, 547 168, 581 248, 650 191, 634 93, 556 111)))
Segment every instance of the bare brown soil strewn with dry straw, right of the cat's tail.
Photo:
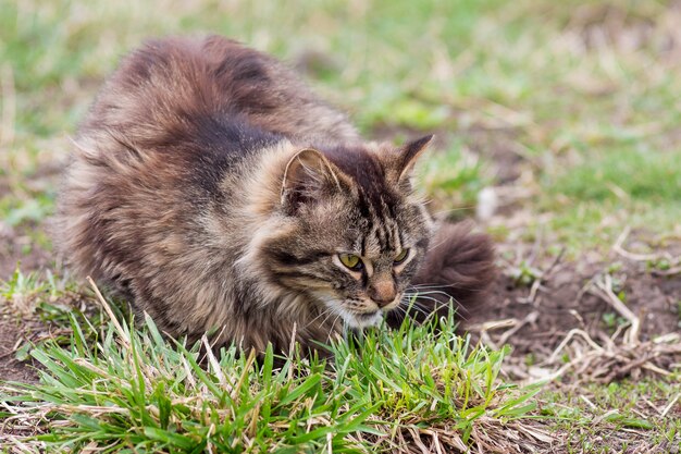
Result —
MULTIPOLYGON (((511 346, 512 366, 507 369, 511 379, 544 378, 548 370, 561 366, 565 358, 560 354, 570 351, 569 357, 574 358, 581 354, 580 349, 589 351, 594 345, 606 349, 611 346, 614 355, 627 358, 612 364, 605 358, 604 363, 594 359, 595 363, 584 365, 587 370, 581 371, 579 380, 572 377, 567 381, 609 382, 632 375, 639 378, 641 370, 629 368, 629 360, 645 357, 645 347, 632 344, 629 351, 622 349, 631 323, 603 291, 607 282, 640 321, 636 340, 642 344, 654 345, 663 334, 681 334, 678 274, 666 275, 665 271, 651 270, 645 262, 621 257, 605 262, 589 259, 557 262, 555 258, 548 261, 542 278, 528 285, 519 284, 517 277, 511 275, 512 267, 502 270, 485 304, 461 314, 462 327, 475 339, 495 347, 511 346), (589 370, 596 365, 603 366, 600 373, 589 370)), ((663 355, 657 366, 668 370, 681 358, 679 353, 663 355)))

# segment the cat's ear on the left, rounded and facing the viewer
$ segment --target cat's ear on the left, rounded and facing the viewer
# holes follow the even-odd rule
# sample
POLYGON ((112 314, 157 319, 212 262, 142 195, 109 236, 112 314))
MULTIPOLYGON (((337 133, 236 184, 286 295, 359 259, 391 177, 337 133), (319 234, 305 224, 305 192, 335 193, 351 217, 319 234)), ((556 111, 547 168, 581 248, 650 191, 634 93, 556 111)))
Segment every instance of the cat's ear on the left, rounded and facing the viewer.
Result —
POLYGON ((343 188, 347 176, 320 151, 306 148, 286 164, 282 182, 282 207, 295 212, 301 204, 319 200, 343 188))

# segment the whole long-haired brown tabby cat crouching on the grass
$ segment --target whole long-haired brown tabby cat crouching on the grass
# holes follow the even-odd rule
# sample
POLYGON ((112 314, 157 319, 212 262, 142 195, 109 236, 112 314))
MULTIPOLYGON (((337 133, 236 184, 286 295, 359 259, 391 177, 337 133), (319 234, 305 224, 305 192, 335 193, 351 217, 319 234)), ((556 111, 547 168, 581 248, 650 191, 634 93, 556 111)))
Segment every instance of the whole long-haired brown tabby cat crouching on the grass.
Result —
POLYGON ((413 195, 429 142, 363 142, 290 70, 238 42, 153 40, 79 130, 57 243, 163 331, 244 348, 399 318, 414 289, 420 311, 466 304, 491 279, 492 247, 435 226, 413 195))

